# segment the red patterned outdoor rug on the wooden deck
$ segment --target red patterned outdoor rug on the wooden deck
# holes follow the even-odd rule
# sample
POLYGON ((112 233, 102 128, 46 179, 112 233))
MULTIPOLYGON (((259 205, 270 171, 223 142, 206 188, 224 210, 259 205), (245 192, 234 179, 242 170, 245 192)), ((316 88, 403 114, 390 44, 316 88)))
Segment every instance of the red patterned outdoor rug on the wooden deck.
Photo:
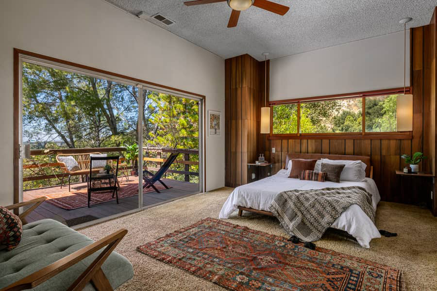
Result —
MULTIPOLYGON (((138 184, 137 183, 120 183, 120 189, 118 189, 118 200, 122 198, 132 197, 135 195, 138 195, 138 184)), ((164 190, 166 189, 162 185, 155 184, 155 187, 158 190, 164 190)), ((53 194, 44 194, 44 196, 47 197, 46 202, 53 204, 54 206, 57 206, 59 208, 72 210, 72 209, 78 209, 82 207, 88 207, 88 192, 86 190, 86 185, 84 187, 81 187, 80 190, 74 190, 73 187, 71 187, 71 192, 61 192, 61 193, 53 193, 53 194)), ((170 187, 171 188, 171 187, 170 187)), ((67 185, 68 189, 68 185, 67 185)), ((144 188, 144 193, 151 193, 155 192, 152 188, 144 188)), ((100 204, 103 202, 113 201, 116 200, 116 197, 114 195, 114 198, 112 198, 112 191, 110 192, 93 192, 91 193, 91 202, 90 206, 100 204)), ((122 203, 119 201, 119 203, 122 203)))

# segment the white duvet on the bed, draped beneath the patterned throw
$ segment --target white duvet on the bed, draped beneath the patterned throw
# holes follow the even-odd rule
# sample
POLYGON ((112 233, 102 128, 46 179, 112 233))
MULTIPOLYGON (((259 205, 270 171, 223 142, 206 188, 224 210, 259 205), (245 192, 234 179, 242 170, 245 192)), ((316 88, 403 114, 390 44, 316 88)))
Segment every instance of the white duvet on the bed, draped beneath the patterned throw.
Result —
MULTIPOLYGON (((275 196, 287 190, 309 190, 348 186, 361 186, 365 188, 370 194, 372 194, 372 204, 373 208, 376 210, 376 206, 381 200, 381 197, 375 181, 371 178, 366 178, 363 182, 317 182, 288 178, 286 170, 280 170, 276 175, 269 178, 264 178, 235 188, 224 203, 218 218, 229 218, 237 209, 237 206, 269 211, 269 206, 275 196)), ((331 227, 348 232, 362 247, 365 248, 370 247, 369 243, 372 239, 381 237, 378 229, 370 220, 369 216, 367 216, 361 207, 356 204, 351 205, 345 212, 343 212, 331 227)))

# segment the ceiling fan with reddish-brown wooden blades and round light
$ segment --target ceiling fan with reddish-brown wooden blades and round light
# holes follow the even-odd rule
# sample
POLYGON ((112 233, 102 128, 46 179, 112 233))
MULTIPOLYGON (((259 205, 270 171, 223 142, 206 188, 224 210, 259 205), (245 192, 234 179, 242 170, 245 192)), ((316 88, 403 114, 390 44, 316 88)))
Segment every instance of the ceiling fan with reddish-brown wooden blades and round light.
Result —
POLYGON ((235 27, 240 17, 240 12, 248 9, 249 7, 256 6, 258 8, 279 14, 285 15, 290 9, 287 6, 270 2, 268 0, 195 0, 184 2, 185 5, 201 5, 217 2, 228 2, 229 7, 232 8, 231 17, 229 18, 228 27, 235 27))

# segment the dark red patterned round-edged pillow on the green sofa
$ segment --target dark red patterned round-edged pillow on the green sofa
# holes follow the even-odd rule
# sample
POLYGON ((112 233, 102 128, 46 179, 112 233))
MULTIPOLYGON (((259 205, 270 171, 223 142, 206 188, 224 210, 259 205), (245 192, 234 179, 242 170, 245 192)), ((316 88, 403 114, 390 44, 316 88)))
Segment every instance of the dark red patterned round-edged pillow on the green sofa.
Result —
POLYGON ((21 241, 23 224, 10 210, 0 206, 0 249, 12 250, 21 241))

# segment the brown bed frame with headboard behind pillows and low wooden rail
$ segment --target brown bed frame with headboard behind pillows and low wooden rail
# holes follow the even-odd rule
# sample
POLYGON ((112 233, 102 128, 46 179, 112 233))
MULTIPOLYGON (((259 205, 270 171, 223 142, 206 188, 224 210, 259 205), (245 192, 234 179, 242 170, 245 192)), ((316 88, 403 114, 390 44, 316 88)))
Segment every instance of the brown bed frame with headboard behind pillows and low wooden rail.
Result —
MULTIPOLYGON (((366 156, 322 155, 322 154, 287 154, 286 162, 285 162, 283 169, 286 169, 286 166, 288 165, 288 161, 290 161, 291 159, 307 159, 307 160, 317 159, 317 160, 320 160, 322 158, 323 159, 330 159, 330 160, 349 160, 349 161, 364 162, 367 165, 366 177, 373 178, 373 166, 370 164, 370 157, 366 157, 366 156)), ((258 210, 258 209, 243 207, 243 206, 237 206, 237 208, 238 208, 238 216, 243 216, 243 210, 258 213, 258 214, 268 215, 268 216, 274 216, 273 213, 271 213, 270 211, 258 210)))

